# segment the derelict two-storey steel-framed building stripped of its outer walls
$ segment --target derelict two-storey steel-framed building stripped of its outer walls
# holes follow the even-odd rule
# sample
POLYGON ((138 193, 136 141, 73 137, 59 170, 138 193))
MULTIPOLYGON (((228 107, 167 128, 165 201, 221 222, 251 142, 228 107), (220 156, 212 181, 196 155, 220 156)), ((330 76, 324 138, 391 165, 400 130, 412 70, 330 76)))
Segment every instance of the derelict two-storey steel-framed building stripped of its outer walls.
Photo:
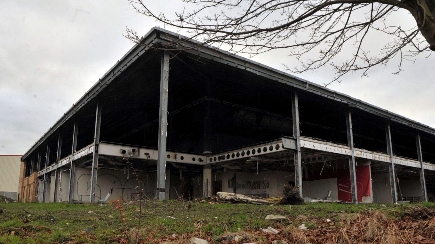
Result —
POLYGON ((433 199, 434 128, 158 27, 142 41, 23 155, 30 201, 276 197, 284 185, 433 199))

